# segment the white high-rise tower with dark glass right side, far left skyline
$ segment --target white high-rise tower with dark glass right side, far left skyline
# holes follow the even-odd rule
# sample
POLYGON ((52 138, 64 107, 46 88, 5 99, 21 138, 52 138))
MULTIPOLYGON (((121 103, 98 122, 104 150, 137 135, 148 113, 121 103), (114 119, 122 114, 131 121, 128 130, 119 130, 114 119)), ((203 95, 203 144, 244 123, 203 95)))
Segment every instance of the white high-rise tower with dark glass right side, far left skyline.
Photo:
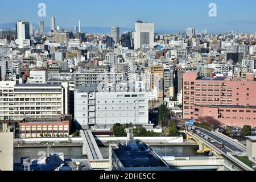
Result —
POLYGON ((30 46, 30 23, 19 21, 16 23, 19 48, 30 46))

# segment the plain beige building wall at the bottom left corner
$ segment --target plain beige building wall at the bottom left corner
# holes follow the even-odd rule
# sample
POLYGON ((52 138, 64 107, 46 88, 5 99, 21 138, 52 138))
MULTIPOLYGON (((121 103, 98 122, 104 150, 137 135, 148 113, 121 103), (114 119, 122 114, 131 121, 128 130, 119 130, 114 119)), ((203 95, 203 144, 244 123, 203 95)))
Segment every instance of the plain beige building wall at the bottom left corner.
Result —
POLYGON ((13 171, 14 134, 0 133, 0 171, 13 171))

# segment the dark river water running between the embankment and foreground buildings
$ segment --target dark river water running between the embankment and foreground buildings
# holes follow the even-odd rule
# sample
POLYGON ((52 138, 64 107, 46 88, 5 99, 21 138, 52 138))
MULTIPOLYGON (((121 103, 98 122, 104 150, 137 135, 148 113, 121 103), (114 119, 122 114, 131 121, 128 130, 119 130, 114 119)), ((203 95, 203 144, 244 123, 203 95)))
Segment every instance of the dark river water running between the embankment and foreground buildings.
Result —
MULTIPOLYGON (((160 156, 202 156, 202 154, 196 154, 198 146, 151 146, 151 148, 160 156)), ((82 147, 52 147, 52 151, 64 152, 65 159, 87 158, 82 155, 82 147)), ((109 147, 100 147, 100 151, 104 159, 109 158, 109 147)), ((47 148, 15 148, 14 161, 20 162, 22 156, 38 159, 44 152, 46 154, 47 148)))

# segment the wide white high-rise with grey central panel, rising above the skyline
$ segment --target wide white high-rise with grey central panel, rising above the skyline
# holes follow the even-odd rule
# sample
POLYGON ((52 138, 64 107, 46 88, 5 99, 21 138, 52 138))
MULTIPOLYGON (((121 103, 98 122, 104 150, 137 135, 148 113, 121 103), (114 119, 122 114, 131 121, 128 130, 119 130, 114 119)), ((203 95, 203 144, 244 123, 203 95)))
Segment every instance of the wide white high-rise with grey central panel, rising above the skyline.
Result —
POLYGON ((137 21, 135 23, 134 48, 154 48, 154 31, 154 23, 137 21))

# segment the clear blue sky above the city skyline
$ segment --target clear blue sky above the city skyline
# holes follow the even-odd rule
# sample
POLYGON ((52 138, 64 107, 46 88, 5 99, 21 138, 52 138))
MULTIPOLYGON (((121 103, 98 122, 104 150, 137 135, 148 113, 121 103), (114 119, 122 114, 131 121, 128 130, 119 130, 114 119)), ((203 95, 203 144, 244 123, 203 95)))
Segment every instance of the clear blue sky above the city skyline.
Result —
POLYGON ((255 0, 9 0, 0 2, 0 24, 26 20, 39 24, 56 17, 56 26, 129 27, 135 20, 155 23, 156 30, 185 30, 187 27, 209 32, 256 31, 255 0), (38 4, 46 3, 46 17, 38 16, 38 4), (208 15, 209 3, 217 4, 217 17, 208 15))

